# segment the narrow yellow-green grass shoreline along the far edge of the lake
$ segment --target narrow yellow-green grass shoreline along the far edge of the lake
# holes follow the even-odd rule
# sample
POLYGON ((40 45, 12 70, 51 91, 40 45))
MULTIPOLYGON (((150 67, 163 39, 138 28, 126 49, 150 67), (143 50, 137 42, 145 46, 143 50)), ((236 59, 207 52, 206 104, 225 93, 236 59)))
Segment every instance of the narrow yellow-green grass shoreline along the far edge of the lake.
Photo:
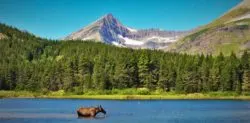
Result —
POLYGON ((93 99, 93 100, 250 100, 246 95, 209 95, 203 93, 192 94, 155 94, 155 95, 44 95, 32 92, 0 91, 3 98, 41 98, 41 99, 93 99))

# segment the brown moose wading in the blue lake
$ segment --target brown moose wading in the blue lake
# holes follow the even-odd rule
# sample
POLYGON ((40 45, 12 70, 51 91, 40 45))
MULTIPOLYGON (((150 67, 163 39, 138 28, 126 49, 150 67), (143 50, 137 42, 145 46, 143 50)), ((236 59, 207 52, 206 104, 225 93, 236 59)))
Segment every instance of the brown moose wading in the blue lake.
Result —
POLYGON ((97 107, 80 107, 77 110, 78 117, 94 118, 98 113, 102 112, 106 116, 106 111, 101 105, 97 107))

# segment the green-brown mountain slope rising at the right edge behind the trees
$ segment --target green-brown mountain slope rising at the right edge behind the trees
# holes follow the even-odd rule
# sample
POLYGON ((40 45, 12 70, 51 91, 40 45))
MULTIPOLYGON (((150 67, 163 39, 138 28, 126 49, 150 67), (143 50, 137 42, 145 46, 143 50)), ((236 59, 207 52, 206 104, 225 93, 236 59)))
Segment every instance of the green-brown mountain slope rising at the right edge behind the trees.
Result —
POLYGON ((217 20, 171 44, 167 51, 229 55, 249 48, 250 0, 244 0, 217 20))

